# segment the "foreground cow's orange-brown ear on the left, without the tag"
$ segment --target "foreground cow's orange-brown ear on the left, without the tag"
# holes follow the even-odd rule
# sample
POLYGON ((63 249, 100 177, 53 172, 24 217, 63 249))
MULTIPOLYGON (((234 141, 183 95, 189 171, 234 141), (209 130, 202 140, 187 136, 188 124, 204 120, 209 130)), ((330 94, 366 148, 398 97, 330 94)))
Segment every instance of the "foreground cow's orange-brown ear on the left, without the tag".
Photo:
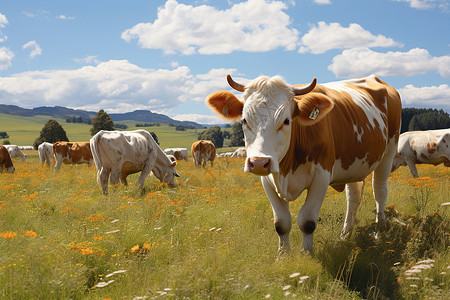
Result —
POLYGON ((242 103, 235 95, 228 91, 218 91, 206 98, 206 104, 226 120, 236 120, 242 116, 242 103))

